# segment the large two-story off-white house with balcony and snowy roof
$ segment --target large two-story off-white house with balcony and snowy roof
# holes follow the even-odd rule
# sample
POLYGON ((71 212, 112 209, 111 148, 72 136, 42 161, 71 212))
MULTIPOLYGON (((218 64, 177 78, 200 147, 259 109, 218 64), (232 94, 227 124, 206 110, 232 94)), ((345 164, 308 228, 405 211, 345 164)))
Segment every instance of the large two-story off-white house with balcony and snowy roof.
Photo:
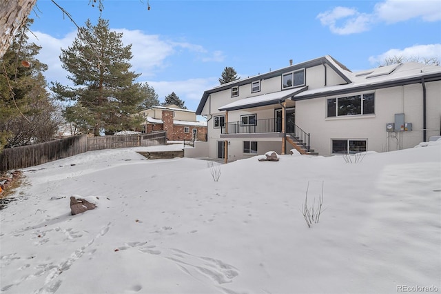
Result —
POLYGON ((225 161, 411 148, 440 135, 441 66, 351 72, 327 55, 206 90, 196 115, 207 117, 203 153, 225 161))

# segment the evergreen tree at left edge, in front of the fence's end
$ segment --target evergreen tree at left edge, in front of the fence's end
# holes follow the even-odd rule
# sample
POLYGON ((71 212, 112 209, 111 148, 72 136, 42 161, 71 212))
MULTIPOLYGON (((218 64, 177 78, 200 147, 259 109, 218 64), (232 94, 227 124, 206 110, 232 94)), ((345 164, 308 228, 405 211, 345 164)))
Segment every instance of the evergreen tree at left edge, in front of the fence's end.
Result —
POLYGON ((35 58, 41 47, 28 43, 29 19, 0 59, 0 150, 53 139, 59 121, 42 72, 48 66, 35 58))

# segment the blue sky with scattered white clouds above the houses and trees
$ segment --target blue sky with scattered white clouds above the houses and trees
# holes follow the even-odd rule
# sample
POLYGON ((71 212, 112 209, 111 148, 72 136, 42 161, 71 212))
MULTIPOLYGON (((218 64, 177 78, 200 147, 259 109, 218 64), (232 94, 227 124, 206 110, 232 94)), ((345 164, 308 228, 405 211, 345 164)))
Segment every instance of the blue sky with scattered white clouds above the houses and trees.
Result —
MULTIPOLYGON (((99 10, 88 0, 56 0, 83 26, 99 10)), ((441 60, 440 0, 104 0, 103 19, 132 43, 132 70, 163 101, 175 92, 196 110, 226 66, 249 77, 331 55, 352 71, 403 55, 441 60)), ((76 27, 50 0, 38 0, 30 40, 42 46, 48 81, 68 84, 60 48, 76 27)))

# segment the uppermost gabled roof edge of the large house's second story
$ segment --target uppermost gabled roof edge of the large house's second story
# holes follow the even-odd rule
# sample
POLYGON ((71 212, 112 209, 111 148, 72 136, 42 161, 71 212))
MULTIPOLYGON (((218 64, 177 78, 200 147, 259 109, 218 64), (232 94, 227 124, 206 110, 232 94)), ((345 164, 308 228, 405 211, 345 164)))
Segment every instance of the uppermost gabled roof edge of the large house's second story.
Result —
POLYGON ((220 86, 216 86, 210 90, 206 90, 202 95, 201 101, 199 102, 198 108, 196 110, 196 115, 201 115, 201 112, 205 106, 205 103, 207 102, 209 95, 214 92, 220 92, 223 90, 227 90, 227 89, 231 88, 232 86, 242 86, 245 84, 249 84, 249 83, 251 83, 251 81, 255 81, 256 79, 269 79, 271 77, 277 77, 279 75, 282 75, 283 72, 289 72, 289 71, 298 70, 301 68, 311 68, 313 66, 320 66, 320 65, 325 65, 325 64, 327 64, 328 66, 333 68, 337 72, 337 74, 340 75, 340 77, 342 77, 342 79, 347 81, 347 83, 351 82, 351 79, 350 79, 351 71, 346 66, 343 66, 342 63, 336 61, 336 59, 334 59, 333 57, 326 55, 324 57, 311 59, 309 61, 297 63, 292 66, 287 66, 286 68, 280 68, 278 70, 267 72, 262 75, 256 75, 253 77, 247 77, 245 79, 238 79, 236 81, 231 81, 227 84, 223 84, 220 86))

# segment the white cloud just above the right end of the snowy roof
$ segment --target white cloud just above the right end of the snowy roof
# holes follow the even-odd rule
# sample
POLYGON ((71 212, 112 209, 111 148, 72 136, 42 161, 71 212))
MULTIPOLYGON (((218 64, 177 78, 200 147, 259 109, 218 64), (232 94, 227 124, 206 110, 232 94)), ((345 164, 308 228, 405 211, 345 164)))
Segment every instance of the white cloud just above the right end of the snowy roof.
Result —
POLYGON ((424 59, 436 58, 441 61, 441 43, 429 45, 415 45, 404 49, 391 49, 377 56, 369 57, 369 62, 372 66, 384 63, 384 60, 390 57, 407 57, 411 59, 419 59, 423 62, 424 59))

